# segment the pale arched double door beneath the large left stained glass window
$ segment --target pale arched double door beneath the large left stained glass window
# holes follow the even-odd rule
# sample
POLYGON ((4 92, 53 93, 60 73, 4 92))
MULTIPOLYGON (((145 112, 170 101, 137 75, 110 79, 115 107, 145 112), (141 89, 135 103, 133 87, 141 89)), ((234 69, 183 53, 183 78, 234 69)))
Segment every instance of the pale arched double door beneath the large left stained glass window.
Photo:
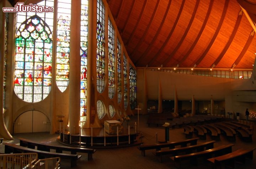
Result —
POLYGON ((14 122, 14 133, 36 132, 50 132, 50 121, 44 113, 30 110, 17 117, 14 122))

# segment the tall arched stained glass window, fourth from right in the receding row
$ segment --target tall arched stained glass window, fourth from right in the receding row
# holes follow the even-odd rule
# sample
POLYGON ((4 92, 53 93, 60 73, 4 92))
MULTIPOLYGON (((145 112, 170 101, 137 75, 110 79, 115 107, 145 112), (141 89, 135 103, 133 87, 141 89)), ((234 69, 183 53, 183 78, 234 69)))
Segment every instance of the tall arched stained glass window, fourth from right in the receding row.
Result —
POLYGON ((114 27, 108 18, 108 97, 114 97, 114 27))

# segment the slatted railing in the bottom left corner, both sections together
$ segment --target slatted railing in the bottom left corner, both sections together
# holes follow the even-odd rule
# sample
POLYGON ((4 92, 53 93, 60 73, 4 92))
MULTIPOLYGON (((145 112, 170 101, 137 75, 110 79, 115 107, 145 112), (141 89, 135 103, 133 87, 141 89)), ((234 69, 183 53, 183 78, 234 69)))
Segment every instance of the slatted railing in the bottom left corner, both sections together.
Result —
POLYGON ((1 169, 59 169, 60 157, 38 159, 37 153, 1 154, 1 169))

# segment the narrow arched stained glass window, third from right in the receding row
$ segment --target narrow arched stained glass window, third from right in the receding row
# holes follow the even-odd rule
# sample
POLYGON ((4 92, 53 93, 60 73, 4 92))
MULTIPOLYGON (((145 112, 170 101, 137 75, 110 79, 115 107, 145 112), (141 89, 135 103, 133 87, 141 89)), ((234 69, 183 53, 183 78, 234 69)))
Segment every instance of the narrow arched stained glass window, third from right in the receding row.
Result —
POLYGON ((117 39, 117 101, 121 102, 122 99, 122 82, 121 82, 121 43, 117 39))

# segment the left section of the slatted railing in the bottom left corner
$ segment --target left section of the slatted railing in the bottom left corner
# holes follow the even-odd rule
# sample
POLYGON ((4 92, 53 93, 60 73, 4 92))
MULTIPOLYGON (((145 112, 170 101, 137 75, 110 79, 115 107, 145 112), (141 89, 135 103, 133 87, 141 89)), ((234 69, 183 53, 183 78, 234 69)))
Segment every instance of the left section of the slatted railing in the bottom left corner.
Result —
POLYGON ((34 162, 38 159, 37 153, 21 153, 21 154, 2 154, 0 155, 0 168, 16 169, 16 168, 32 168, 34 162))

